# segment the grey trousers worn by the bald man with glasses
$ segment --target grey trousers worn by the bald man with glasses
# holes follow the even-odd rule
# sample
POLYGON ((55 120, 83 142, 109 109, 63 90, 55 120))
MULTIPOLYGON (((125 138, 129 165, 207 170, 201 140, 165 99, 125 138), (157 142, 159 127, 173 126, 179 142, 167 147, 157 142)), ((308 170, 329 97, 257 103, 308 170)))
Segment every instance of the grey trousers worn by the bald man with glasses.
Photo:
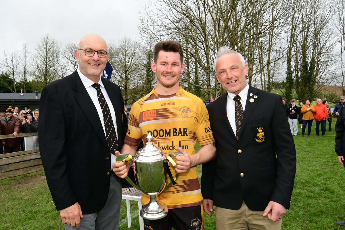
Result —
POLYGON ((120 220, 121 190, 121 179, 112 174, 105 206, 96 213, 83 214, 84 218, 80 219, 80 228, 65 224, 65 230, 117 230, 120 220))

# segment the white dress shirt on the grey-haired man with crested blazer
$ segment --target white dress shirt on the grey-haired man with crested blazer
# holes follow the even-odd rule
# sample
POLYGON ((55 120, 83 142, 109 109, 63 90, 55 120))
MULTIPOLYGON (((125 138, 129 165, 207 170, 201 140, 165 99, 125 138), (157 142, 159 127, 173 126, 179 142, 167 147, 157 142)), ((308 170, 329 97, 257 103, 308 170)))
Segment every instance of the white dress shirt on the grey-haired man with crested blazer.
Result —
MULTIPOLYGON (((241 104, 243 107, 243 112, 246 108, 246 101, 248 96, 249 84, 238 94, 241 97, 241 104)), ((226 100, 226 115, 228 116, 228 120, 230 122, 231 128, 233 128, 234 134, 236 136, 236 121, 235 121, 235 101, 234 97, 237 94, 228 92, 228 98, 226 100)), ((244 113, 246 116, 246 113, 244 113)))

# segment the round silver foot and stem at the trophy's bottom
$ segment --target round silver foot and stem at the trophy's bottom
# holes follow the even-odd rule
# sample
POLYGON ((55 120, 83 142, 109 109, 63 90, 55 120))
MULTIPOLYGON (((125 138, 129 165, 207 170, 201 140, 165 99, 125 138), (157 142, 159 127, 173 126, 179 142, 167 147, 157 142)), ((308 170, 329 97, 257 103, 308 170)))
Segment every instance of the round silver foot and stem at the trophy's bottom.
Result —
POLYGON ((147 220, 158 220, 168 214, 168 208, 161 203, 158 203, 155 195, 150 196, 150 202, 145 204, 140 210, 140 216, 147 220))

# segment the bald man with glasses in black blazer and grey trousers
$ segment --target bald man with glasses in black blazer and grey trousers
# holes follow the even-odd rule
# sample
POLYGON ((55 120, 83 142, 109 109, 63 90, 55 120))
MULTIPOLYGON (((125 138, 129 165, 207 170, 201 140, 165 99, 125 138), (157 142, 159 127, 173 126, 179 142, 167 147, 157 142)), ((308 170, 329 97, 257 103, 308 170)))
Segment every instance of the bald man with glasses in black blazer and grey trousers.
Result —
POLYGON ((121 180, 112 173, 116 156, 111 151, 121 148, 127 131, 124 102, 120 88, 100 77, 109 58, 105 40, 97 34, 83 37, 75 56, 78 69, 42 90, 42 163, 65 229, 118 229, 121 180), (101 105, 99 95, 106 103, 101 105), (114 124, 111 135, 118 139, 113 149, 104 108, 114 124))

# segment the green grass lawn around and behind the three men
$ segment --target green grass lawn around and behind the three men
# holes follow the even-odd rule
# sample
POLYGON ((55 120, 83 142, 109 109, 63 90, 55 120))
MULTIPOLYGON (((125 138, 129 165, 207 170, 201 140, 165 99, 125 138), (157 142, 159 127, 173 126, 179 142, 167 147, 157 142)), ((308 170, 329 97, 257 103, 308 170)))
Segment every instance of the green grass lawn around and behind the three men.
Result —
MULTIPOLYGON (((336 119, 333 119, 334 130, 336 119)), ((328 122, 326 123, 328 127, 328 122)), ((328 130, 328 128, 327 128, 328 130)), ((335 222, 345 220, 345 169, 334 152, 335 132, 325 137, 294 136, 297 171, 291 208, 283 218, 284 230, 341 229, 335 222)), ((281 140, 284 141, 284 140, 281 140)), ((199 175, 201 175, 199 167, 199 175)), ((131 230, 139 229, 138 203, 130 201, 131 230)), ((216 229, 215 216, 205 214, 205 230, 216 229)), ((64 229, 53 206, 43 172, 0 180, 0 230, 64 229)), ((120 230, 126 230, 126 202, 122 200, 120 230)))

